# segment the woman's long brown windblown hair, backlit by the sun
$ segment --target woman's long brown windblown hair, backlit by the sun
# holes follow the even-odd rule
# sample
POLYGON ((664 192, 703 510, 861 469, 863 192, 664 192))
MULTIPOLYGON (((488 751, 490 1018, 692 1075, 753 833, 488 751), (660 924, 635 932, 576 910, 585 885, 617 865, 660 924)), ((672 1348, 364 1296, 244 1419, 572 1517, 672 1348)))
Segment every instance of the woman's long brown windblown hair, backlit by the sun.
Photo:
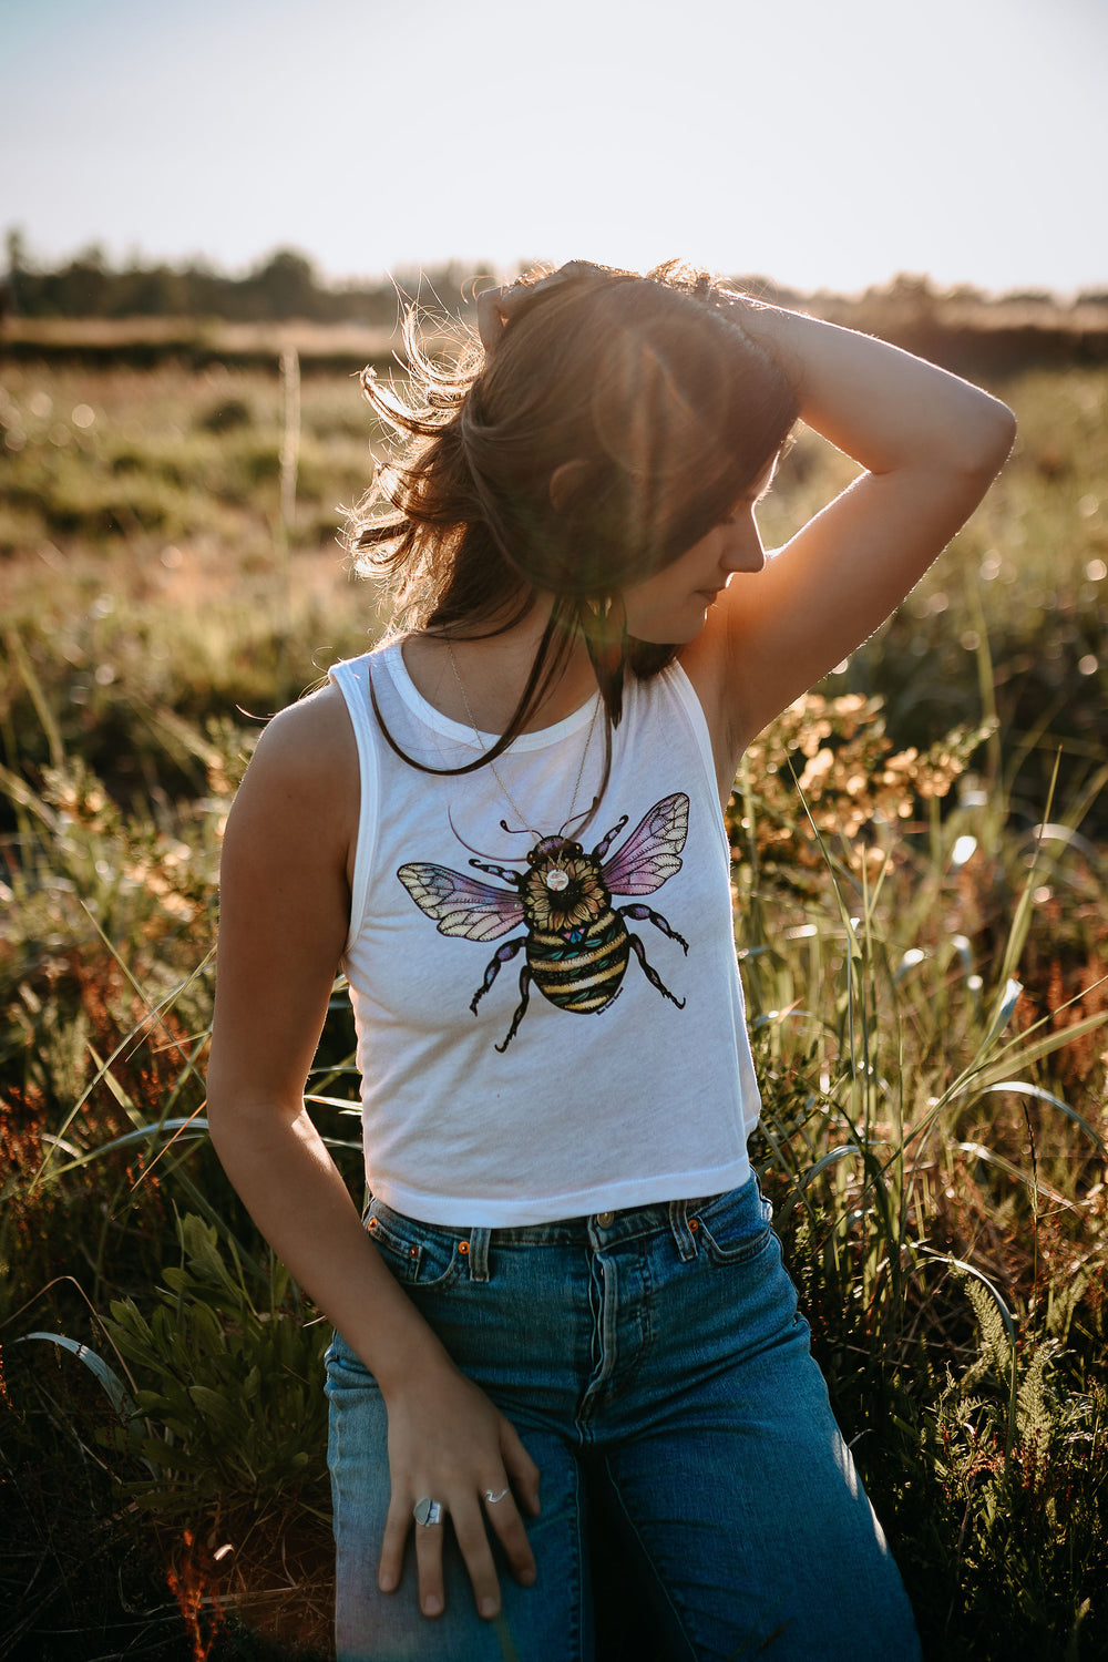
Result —
POLYGON ((452 362, 434 361, 412 309, 407 396, 362 376, 404 449, 377 465, 347 545, 362 572, 389 580, 395 628, 497 635, 553 595, 498 743, 463 768, 425 771, 500 756, 578 637, 605 696, 610 755, 623 663, 648 676, 676 655, 621 635, 621 590, 724 520, 797 417, 784 372, 721 293, 679 261, 646 276, 588 268, 522 299, 492 356, 470 341, 452 362))

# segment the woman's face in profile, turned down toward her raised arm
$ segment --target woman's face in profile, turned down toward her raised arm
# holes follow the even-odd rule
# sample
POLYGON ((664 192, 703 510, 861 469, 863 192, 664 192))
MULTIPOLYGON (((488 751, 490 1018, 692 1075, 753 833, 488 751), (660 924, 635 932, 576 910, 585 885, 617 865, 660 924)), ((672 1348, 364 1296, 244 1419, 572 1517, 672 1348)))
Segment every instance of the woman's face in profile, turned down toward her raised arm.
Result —
POLYGON ((776 459, 754 480, 723 524, 641 583, 623 590, 628 635, 636 640, 683 645, 704 627, 708 608, 728 587, 733 572, 761 572, 766 552, 756 509, 769 490, 776 459))

